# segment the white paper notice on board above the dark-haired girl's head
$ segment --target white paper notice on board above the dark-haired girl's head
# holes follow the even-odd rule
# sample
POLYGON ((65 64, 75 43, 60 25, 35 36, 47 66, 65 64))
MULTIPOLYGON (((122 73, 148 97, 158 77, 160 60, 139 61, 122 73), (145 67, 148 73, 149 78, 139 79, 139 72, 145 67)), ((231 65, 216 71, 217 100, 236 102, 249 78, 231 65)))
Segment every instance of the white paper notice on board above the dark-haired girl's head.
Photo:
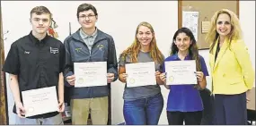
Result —
POLYGON ((190 29, 196 40, 198 40, 199 12, 182 11, 182 27, 190 29))

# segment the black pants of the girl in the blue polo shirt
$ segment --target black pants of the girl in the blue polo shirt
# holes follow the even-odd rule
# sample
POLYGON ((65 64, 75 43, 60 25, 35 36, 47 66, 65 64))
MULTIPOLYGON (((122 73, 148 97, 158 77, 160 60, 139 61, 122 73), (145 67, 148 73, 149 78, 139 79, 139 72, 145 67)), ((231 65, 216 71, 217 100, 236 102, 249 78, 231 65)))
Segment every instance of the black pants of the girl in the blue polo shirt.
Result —
POLYGON ((200 125, 202 119, 202 111, 197 112, 169 112, 167 111, 167 119, 169 125, 200 125))

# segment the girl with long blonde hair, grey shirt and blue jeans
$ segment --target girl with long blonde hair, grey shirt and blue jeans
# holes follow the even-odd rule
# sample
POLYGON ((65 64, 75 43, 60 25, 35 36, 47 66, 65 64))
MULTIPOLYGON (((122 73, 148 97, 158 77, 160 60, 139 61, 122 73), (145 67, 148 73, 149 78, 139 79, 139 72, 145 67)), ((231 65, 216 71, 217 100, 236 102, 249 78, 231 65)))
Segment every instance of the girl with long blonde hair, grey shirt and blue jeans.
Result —
POLYGON ((146 21, 137 26, 136 37, 131 46, 119 57, 119 80, 127 83, 127 63, 154 62, 156 84, 128 88, 125 86, 123 114, 126 124, 156 125, 163 110, 163 96, 159 84, 163 54, 156 46, 153 27, 146 21))

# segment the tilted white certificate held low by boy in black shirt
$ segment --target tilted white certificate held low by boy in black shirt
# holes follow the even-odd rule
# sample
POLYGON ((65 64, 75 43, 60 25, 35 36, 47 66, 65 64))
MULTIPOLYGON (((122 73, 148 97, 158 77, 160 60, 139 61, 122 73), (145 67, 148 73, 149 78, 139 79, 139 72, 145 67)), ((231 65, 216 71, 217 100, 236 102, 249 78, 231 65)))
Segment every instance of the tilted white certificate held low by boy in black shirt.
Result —
POLYGON ((58 111, 56 87, 22 91, 25 117, 58 111))

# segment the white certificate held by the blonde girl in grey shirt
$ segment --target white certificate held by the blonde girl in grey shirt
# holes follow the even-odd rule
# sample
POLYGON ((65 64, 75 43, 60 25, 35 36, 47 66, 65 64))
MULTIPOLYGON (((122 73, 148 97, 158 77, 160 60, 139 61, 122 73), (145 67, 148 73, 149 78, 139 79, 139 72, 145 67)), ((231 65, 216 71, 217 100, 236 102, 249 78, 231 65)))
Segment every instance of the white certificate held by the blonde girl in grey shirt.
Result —
POLYGON ((154 62, 127 63, 126 64, 127 87, 140 87, 156 85, 154 62))

